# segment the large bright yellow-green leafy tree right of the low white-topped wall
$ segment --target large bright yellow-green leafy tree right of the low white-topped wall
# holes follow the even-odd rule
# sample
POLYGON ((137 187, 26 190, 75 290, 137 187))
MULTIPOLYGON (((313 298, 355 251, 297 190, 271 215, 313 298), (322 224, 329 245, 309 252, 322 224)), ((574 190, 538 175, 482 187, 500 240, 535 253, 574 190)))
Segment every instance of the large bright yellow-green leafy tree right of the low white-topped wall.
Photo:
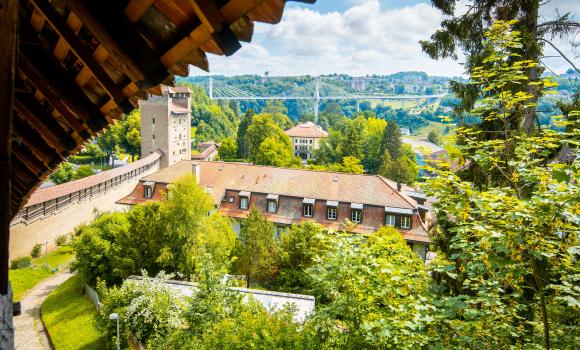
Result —
POLYGON ((428 274, 401 234, 328 236, 308 272, 317 296, 306 328, 323 348, 417 349, 429 342, 428 274))

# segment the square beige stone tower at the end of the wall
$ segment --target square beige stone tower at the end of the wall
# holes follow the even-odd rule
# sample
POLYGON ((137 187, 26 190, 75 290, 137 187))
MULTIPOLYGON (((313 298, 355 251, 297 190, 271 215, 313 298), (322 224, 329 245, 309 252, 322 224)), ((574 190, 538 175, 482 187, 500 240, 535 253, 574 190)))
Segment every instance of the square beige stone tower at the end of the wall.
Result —
POLYGON ((191 90, 161 86, 161 95, 140 100, 141 155, 161 150, 161 168, 191 159, 191 90))

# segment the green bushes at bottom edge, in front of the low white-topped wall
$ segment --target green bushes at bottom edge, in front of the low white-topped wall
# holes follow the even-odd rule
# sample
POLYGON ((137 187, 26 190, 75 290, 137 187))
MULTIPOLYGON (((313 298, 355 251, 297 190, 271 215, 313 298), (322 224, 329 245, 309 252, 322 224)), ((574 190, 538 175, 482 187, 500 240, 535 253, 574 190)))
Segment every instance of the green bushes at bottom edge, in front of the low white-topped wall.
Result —
POLYGON ((200 284, 185 312, 186 322, 156 349, 303 349, 300 327, 292 321, 293 310, 268 312, 251 298, 210 278, 200 284))

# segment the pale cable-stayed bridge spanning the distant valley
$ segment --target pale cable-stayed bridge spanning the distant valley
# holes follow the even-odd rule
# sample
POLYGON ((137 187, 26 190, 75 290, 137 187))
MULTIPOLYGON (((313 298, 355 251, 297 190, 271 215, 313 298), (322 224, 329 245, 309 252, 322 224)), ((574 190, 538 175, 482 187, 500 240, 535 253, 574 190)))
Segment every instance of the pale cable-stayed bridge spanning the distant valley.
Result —
MULTIPOLYGON (((199 82, 197 84, 205 88, 206 93, 212 100, 311 100, 315 102, 314 116, 317 119, 318 108, 321 100, 356 100, 358 110, 358 102, 361 100, 395 100, 402 101, 403 104, 405 101, 415 101, 418 105, 419 101, 423 99, 436 100, 447 95, 446 93, 431 95, 395 95, 372 92, 365 93, 366 82, 371 81, 372 78, 354 78, 352 81, 355 82, 355 84, 356 82, 363 83, 359 83, 358 87, 352 89, 348 89, 345 86, 341 86, 340 84, 330 83, 327 80, 337 79, 328 77, 314 77, 301 85, 295 84, 293 87, 285 91, 268 96, 254 94, 252 92, 242 90, 228 84, 224 79, 214 79, 213 77, 209 77, 207 81, 199 82)), ((344 83, 344 81, 341 82, 344 83)))

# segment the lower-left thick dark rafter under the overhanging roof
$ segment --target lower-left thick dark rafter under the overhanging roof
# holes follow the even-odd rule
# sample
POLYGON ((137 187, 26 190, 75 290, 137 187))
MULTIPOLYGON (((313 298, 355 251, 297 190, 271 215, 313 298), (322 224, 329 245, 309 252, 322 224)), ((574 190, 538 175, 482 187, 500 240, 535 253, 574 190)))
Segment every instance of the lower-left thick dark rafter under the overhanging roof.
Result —
MULTIPOLYGON (((42 47, 21 45, 20 70, 63 116, 81 118, 95 133, 107 126, 105 116, 69 74, 42 47)), ((84 139, 88 135, 81 135, 84 139)))

